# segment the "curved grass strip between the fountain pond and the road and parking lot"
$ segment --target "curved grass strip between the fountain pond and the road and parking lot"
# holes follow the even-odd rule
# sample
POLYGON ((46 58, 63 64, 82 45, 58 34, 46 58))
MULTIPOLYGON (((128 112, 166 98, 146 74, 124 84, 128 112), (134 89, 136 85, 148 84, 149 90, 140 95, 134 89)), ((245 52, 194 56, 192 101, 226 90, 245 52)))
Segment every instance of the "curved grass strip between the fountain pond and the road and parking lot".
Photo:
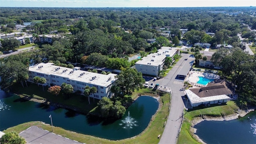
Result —
MULTIPOLYGON (((148 92, 148 90, 144 90, 144 91, 148 92)), ((158 134, 162 135, 164 131, 163 125, 164 125, 164 122, 167 120, 166 116, 168 116, 169 114, 168 107, 170 102, 170 94, 161 93, 160 96, 161 96, 159 100, 159 103, 161 106, 160 109, 158 109, 158 112, 152 118, 152 121, 150 122, 146 130, 144 130, 144 132, 142 132, 141 134, 139 134, 134 138, 128 138, 128 139, 118 140, 118 141, 106 140, 102 138, 96 138, 94 136, 88 136, 88 135, 79 134, 76 132, 71 132, 59 127, 54 127, 54 133, 64 136, 66 138, 70 138, 72 140, 76 140, 78 142, 86 143, 86 144, 95 144, 95 143, 97 144, 157 144, 160 140, 157 138, 158 134)), ((16 131, 20 133, 23 130, 26 130, 26 128, 29 128, 30 126, 38 126, 48 131, 52 130, 52 127, 49 124, 42 124, 42 122, 26 122, 23 124, 19 124, 18 126, 14 126, 12 128, 8 128, 3 132, 16 131)))

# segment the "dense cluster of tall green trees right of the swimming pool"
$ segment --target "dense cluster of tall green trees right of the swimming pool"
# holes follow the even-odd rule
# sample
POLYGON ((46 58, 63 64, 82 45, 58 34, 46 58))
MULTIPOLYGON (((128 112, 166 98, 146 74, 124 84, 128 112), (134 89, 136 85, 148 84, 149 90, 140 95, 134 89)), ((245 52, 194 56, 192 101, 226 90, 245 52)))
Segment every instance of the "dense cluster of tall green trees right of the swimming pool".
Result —
POLYGON ((214 64, 223 67, 225 78, 232 81, 238 93, 238 105, 256 105, 256 55, 252 56, 240 48, 220 48, 212 55, 214 64))

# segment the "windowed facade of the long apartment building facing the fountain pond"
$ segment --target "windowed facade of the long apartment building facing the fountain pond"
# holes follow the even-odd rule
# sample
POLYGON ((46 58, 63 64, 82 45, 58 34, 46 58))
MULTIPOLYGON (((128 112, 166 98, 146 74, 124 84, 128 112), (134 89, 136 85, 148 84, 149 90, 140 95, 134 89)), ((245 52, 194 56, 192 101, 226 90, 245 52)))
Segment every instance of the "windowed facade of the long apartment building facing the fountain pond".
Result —
POLYGON ((81 94, 84 94, 85 86, 90 86, 90 87, 94 86, 97 88, 97 92, 95 94, 90 94, 90 97, 97 98, 100 100, 103 97, 110 98, 113 95, 112 92, 110 92, 110 88, 113 84, 110 84, 109 86, 105 87, 105 86, 99 86, 96 84, 89 84, 89 83, 80 82, 76 80, 70 80, 69 78, 56 76, 54 74, 47 75, 47 74, 43 74, 39 72, 31 72, 31 71, 28 72, 28 75, 29 75, 29 78, 28 78, 29 82, 34 83, 33 78, 35 76, 44 77, 46 79, 46 83, 43 84, 44 86, 50 86, 50 85, 61 86, 61 84, 65 82, 66 84, 71 84, 73 86, 74 92, 76 92, 77 90, 80 90, 81 94))

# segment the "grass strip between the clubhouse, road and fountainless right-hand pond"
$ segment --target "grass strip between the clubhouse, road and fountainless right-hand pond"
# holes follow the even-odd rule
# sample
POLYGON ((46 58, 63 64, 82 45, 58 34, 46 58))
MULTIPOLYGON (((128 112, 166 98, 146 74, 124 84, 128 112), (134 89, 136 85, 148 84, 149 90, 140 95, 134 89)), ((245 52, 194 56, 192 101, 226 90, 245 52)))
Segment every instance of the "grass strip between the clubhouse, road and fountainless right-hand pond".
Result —
POLYGON ((200 115, 206 116, 227 116, 230 114, 235 114, 234 110, 237 110, 238 106, 236 106, 234 101, 229 101, 226 104, 218 105, 213 104, 210 107, 200 108, 195 107, 193 109, 188 109, 188 112, 184 115, 184 121, 181 127, 180 136, 178 140, 178 144, 199 144, 190 133, 191 128, 191 120, 200 115))

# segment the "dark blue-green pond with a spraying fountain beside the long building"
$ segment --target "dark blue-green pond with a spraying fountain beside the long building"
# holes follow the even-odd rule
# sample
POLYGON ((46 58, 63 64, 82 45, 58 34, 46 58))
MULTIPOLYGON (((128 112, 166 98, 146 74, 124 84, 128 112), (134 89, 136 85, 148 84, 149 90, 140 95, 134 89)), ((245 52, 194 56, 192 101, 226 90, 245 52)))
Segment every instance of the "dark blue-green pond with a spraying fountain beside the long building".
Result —
POLYGON ((140 134, 148 126, 152 115, 158 109, 158 101, 155 98, 140 96, 126 110, 122 119, 106 122, 74 111, 27 101, 13 94, 8 95, 2 90, 0 90, 0 100, 6 104, 6 108, 0 111, 1 131, 30 121, 51 124, 49 118, 51 114, 54 126, 110 140, 120 140, 140 134), (128 116, 128 111, 134 122, 129 127, 122 122, 128 116))

